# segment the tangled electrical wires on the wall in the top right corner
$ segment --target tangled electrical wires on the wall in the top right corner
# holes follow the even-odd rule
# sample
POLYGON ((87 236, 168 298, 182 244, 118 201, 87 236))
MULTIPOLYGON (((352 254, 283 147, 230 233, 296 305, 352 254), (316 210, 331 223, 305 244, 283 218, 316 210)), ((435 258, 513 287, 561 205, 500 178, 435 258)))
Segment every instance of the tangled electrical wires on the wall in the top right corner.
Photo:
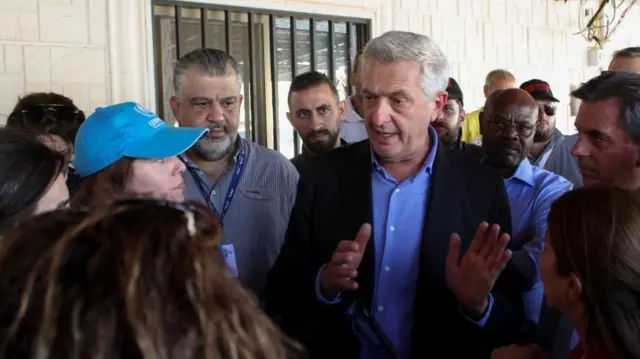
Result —
POLYGON ((593 42, 595 47, 602 48, 618 29, 627 11, 635 5, 637 0, 600 0, 598 9, 589 17, 591 7, 589 0, 581 0, 579 8, 578 26, 581 35, 587 42, 593 42))

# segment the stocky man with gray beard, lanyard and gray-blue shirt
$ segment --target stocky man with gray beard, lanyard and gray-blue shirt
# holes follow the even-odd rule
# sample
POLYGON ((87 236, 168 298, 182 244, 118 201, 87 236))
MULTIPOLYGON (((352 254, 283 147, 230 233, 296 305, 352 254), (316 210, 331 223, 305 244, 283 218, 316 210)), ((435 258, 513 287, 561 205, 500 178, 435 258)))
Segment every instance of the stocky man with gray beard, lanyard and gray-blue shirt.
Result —
POLYGON ((238 136, 242 74, 229 54, 194 50, 178 60, 173 81, 180 125, 210 130, 181 156, 185 198, 218 214, 230 274, 260 297, 284 241, 298 171, 279 152, 238 136))

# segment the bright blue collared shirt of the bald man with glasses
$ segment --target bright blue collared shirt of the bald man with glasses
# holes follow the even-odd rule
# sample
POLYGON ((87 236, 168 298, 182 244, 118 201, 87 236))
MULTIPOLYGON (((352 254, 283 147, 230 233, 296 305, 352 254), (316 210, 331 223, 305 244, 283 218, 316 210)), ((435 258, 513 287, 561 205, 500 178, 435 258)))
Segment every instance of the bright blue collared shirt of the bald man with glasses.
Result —
POLYGON ((523 160, 511 178, 505 179, 513 236, 531 236, 530 242, 513 252, 512 261, 527 277, 537 283, 524 297, 525 316, 538 322, 542 306, 542 282, 540 281, 540 254, 547 232, 547 215, 551 204, 563 193, 573 188, 571 182, 523 160))

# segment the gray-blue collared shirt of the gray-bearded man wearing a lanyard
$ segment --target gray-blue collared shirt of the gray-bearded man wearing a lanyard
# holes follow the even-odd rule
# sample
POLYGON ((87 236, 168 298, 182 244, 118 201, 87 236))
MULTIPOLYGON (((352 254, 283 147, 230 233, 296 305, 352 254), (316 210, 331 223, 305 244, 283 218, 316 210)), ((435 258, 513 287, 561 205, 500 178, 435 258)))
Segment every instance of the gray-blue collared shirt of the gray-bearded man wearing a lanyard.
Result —
MULTIPOLYGON (((299 175, 279 152, 244 139, 240 139, 234 163, 242 147, 246 151, 245 165, 224 217, 224 241, 234 246, 238 279, 261 297, 267 273, 284 242, 299 175)), ((226 171, 214 185, 186 155, 180 158, 187 166, 183 175, 185 198, 204 202, 220 213, 233 170, 226 171)))

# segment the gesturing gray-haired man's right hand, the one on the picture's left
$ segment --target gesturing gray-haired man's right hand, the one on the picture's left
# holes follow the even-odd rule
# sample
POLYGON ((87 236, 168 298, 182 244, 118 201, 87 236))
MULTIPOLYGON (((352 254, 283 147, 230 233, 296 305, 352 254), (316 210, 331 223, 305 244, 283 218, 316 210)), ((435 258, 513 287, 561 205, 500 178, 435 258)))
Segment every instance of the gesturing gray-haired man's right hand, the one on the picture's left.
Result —
POLYGON ((371 238, 371 225, 365 223, 360 227, 354 240, 338 243, 338 248, 331 256, 331 261, 320 274, 320 290, 325 298, 335 298, 344 291, 358 289, 358 267, 371 238))

